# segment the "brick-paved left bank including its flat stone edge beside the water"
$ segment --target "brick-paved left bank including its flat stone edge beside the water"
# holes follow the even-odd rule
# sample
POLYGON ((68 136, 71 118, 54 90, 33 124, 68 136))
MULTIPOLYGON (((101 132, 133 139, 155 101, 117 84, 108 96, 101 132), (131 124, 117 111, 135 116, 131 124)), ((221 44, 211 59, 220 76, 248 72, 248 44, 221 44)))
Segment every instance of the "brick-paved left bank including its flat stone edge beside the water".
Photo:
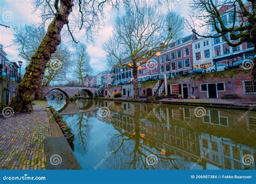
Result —
POLYGON ((0 116, 0 122, 0 169, 80 169, 45 101, 33 101, 31 113, 0 116))

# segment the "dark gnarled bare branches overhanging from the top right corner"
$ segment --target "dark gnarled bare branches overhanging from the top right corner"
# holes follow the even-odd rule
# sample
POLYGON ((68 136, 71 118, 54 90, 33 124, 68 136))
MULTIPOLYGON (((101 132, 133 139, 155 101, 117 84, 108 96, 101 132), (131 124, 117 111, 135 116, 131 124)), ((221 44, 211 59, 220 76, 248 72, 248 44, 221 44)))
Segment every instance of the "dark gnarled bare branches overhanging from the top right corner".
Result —
MULTIPOLYGON (((249 42, 254 45, 254 52, 256 52, 255 8, 256 2, 254 0, 192 0, 190 12, 192 16, 188 20, 188 25, 198 36, 205 38, 221 37, 232 47, 249 42), (250 9, 250 7, 252 8, 250 9), (204 30, 204 33, 196 31, 198 27, 204 30), (218 35, 212 35, 211 29, 216 30, 218 35), (227 33, 230 33, 230 39, 226 36, 227 33)), ((255 58, 252 74, 255 81, 255 58)))

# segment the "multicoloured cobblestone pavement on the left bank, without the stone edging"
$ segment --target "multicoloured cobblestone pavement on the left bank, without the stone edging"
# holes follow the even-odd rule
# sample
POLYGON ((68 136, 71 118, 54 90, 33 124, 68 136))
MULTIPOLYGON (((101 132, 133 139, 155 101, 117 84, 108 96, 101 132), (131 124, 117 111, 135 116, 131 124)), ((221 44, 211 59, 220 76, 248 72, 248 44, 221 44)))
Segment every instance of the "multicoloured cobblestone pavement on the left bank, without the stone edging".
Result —
POLYGON ((51 137, 45 103, 30 114, 0 117, 0 169, 46 169, 44 139, 51 137))

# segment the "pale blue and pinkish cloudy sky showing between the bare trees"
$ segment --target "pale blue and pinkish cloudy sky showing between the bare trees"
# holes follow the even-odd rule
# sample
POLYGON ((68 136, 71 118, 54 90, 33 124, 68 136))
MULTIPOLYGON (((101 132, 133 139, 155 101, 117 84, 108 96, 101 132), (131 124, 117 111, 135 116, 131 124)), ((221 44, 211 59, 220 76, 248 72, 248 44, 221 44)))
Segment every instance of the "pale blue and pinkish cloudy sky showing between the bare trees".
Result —
MULTIPOLYGON (((3 45, 4 51, 8 54, 10 61, 22 60, 18 55, 17 45, 13 43, 13 27, 19 27, 29 24, 40 23, 41 18, 37 13, 33 13, 34 6, 32 0, 1 0, 0 1, 0 24, 10 26, 5 28, 0 26, 0 44, 3 45), (14 45, 12 45, 14 44, 14 45)), ((179 12, 181 16, 186 17, 188 14, 189 0, 177 0, 177 4, 172 6, 172 10, 179 12)), ((116 12, 107 12, 105 26, 102 27, 99 34, 95 36, 94 43, 87 43, 86 38, 81 34, 76 35, 76 39, 87 45, 87 51, 91 56, 91 66, 95 72, 101 72, 106 69, 106 53, 102 49, 102 44, 112 34, 113 23, 116 12)), ((190 34, 185 32, 186 34, 190 34)), ((23 61, 23 60, 22 60, 23 61)), ((22 72, 25 71, 25 65, 22 66, 22 72)))

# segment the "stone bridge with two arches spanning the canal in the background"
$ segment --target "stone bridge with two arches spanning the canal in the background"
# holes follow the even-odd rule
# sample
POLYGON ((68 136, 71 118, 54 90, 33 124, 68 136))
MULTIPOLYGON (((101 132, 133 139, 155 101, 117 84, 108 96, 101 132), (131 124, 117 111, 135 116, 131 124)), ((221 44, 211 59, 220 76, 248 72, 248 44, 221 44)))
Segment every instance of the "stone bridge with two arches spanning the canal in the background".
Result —
POLYGON ((97 87, 69 87, 69 86, 46 86, 42 87, 41 90, 41 98, 44 100, 45 96, 50 93, 52 90, 59 90, 61 91, 67 99, 75 96, 78 91, 85 91, 90 97, 93 96, 93 94, 96 93, 99 88, 97 87))

